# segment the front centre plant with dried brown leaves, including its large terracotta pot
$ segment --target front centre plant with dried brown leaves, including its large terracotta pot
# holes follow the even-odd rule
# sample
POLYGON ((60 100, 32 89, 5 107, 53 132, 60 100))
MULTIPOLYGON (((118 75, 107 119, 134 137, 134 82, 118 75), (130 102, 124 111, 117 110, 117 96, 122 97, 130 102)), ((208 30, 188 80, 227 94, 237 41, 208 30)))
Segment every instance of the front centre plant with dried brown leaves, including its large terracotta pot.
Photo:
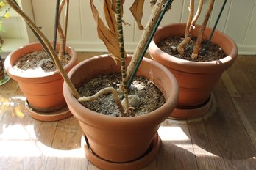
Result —
MULTIPOLYGON (((12 0, 8 1, 12 3, 12 0)), ((108 29, 104 26, 102 19, 99 18, 93 0, 90 1, 94 18, 99 23, 97 26, 99 37, 105 39, 105 45, 112 54, 95 56, 85 60, 77 64, 68 73, 68 76, 65 72, 60 71, 65 79, 63 85, 64 97, 68 108, 74 114, 74 117, 79 120, 85 134, 86 144, 82 147, 85 147, 88 160, 102 169, 141 169, 157 155, 160 147, 157 130, 160 123, 168 117, 177 104, 178 85, 174 76, 163 65, 150 59, 143 59, 140 67, 137 66, 138 70, 136 67, 136 74, 152 81, 163 93, 166 101, 163 106, 154 111, 141 116, 134 116, 134 108, 129 106, 131 100, 129 100, 127 81, 132 75, 133 68, 138 64, 140 56, 143 56, 140 48, 144 46, 143 43, 149 39, 149 36, 141 37, 141 43, 135 50, 138 52, 135 52, 132 57, 127 57, 122 34, 121 1, 104 1, 104 3, 108 29), (96 94, 86 97, 81 97, 77 91, 81 84, 91 80, 96 75, 115 72, 121 73, 120 89, 108 86, 96 92, 96 94), (110 117, 82 105, 82 101, 94 100, 105 93, 110 93, 113 96, 122 117, 110 117), (121 103, 119 93, 124 95, 124 104, 121 103)), ((164 11, 165 3, 164 0, 157 1, 152 16, 149 18, 149 26, 144 30, 144 36, 152 34, 152 28, 157 23, 160 13, 164 11)), ((15 7, 15 4, 13 6, 15 7)), ((143 1, 135 1, 132 5, 132 11, 138 23, 140 23, 142 7, 143 1)), ((15 10, 21 12, 19 8, 15 8, 15 10)), ((36 34, 40 34, 40 30, 36 28, 35 24, 30 23, 26 17, 24 19, 36 34)), ((49 45, 47 45, 47 49, 50 49, 49 45)), ((54 56, 54 60, 55 58, 54 56)), ((61 67, 58 68, 61 69, 61 67)))

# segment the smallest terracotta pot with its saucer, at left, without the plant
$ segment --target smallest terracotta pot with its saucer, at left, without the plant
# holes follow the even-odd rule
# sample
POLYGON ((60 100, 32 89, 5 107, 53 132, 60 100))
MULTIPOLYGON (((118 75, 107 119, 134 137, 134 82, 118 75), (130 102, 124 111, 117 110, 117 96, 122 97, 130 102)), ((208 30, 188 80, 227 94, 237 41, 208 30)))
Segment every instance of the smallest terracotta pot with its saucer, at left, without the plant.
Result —
MULTIPOLYGON (((59 71, 26 74, 13 68, 14 63, 26 53, 41 50, 43 48, 39 42, 18 48, 7 56, 4 66, 8 75, 18 81, 18 85, 26 97, 26 108, 28 108, 30 116, 41 121, 65 119, 72 114, 66 107, 63 97, 63 78, 59 71)), ((77 64, 77 53, 72 48, 67 47, 66 50, 71 56, 71 61, 64 67, 68 72, 77 64)))

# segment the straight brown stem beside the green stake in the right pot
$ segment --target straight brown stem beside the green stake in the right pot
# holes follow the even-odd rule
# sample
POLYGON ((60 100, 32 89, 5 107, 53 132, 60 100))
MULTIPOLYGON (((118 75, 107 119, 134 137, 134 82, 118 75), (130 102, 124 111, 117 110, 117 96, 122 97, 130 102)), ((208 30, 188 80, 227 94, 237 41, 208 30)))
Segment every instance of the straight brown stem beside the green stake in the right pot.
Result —
POLYGON ((204 19, 204 21, 202 23, 202 26, 201 26, 201 28, 199 30, 199 34, 197 36, 196 45, 193 48, 193 53, 191 55, 192 59, 196 59, 197 56, 198 56, 199 48, 200 48, 200 45, 201 45, 201 42, 202 42, 202 37, 203 37, 204 32, 205 32, 206 24, 207 24, 207 22, 208 22, 208 20, 210 18, 210 12, 212 12, 212 10, 213 10, 214 1, 215 0, 210 0, 210 2, 209 2, 209 6, 208 6, 208 9, 207 9, 207 12, 205 13, 205 19, 204 19))

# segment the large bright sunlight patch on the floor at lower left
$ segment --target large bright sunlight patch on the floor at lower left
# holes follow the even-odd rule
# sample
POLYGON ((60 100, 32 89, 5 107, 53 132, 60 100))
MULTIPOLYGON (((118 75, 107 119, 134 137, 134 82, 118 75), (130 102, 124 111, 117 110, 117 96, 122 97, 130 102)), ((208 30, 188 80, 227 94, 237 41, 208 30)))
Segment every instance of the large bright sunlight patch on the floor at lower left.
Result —
POLYGON ((3 125, 0 134, 1 157, 85 158, 82 148, 61 150, 38 141, 34 125, 3 125))

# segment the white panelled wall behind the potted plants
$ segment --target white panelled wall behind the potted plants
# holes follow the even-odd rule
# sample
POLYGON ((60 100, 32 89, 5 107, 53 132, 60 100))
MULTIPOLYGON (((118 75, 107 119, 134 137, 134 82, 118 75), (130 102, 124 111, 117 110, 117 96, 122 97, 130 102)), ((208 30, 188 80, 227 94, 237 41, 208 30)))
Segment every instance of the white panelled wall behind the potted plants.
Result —
MULTIPOLYGON (((28 1, 28 0, 26 0, 28 1)), ((31 0, 35 22, 42 27, 43 32, 49 39, 53 37, 54 8, 55 1, 52 0, 31 0)), ((196 0, 198 3, 199 0, 196 0)), ((209 0, 205 0, 208 2, 209 0)), ((218 11, 224 0, 216 0, 213 14, 210 17, 209 26, 216 21, 218 11)), ((89 0, 70 0, 68 44, 77 51, 106 51, 101 40, 96 35, 96 23, 90 10, 89 0)), ((103 0, 95 0, 96 4, 102 6, 103 0)), ((145 1, 143 25, 149 18, 151 8, 149 0, 145 1)), ((128 11, 131 0, 126 1, 124 20, 130 23, 125 26, 124 40, 127 51, 133 51, 140 39, 141 31, 138 31, 131 13, 128 11)), ((161 26, 168 23, 185 22, 188 16, 189 0, 174 0, 172 10, 167 12, 161 26)), ((206 8, 206 7, 205 7, 206 8)), ((203 9, 205 11, 205 8, 203 9)), ((63 18, 62 18, 63 19, 63 18)), ((202 18, 198 23, 201 23, 202 18)), ((256 54, 256 0, 228 0, 221 20, 218 23, 218 30, 230 35, 238 45, 241 54, 256 54)), ((15 29, 13 29, 15 31, 15 29)), ((21 31, 17 34, 20 35, 21 31)), ((9 36, 15 36, 8 33, 9 36)))

